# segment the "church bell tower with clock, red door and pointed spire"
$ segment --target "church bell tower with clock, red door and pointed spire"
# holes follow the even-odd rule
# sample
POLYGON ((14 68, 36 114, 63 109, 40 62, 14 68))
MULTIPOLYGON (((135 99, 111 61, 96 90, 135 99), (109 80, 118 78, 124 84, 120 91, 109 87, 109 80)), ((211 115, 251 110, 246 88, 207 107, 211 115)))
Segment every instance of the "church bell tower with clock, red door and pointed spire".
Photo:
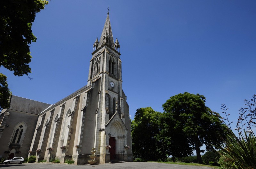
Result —
POLYGON ((96 81, 100 83, 94 138, 100 163, 132 161, 132 149, 124 149, 125 145, 132 146, 132 140, 129 106, 122 89, 120 55, 120 44, 117 39, 114 42, 108 12, 100 40, 96 38, 93 44, 87 81, 87 86, 92 85, 92 88, 96 81), (108 150, 105 145, 110 142, 112 149, 108 150))

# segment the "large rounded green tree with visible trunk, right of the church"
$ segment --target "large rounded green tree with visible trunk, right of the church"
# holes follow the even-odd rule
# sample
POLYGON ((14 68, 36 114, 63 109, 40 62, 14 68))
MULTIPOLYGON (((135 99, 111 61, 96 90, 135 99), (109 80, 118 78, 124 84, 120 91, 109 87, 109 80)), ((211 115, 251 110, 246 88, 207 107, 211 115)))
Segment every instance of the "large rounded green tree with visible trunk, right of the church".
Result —
POLYGON ((199 94, 178 94, 170 97, 163 104, 163 125, 169 127, 170 132, 165 142, 170 142, 173 156, 190 155, 196 150, 199 163, 202 163, 200 147, 206 146, 207 151, 214 149, 212 144, 224 141, 227 126, 220 119, 220 115, 205 106, 206 98, 199 94), (175 141, 175 139, 177 139, 175 141), (182 153, 180 148, 185 149, 182 153))

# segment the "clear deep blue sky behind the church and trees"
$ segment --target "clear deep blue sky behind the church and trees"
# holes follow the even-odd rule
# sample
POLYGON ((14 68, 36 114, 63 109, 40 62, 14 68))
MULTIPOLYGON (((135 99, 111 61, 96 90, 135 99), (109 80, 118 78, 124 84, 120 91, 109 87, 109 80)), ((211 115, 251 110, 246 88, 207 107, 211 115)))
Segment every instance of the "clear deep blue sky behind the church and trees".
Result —
POLYGON ((163 112, 167 99, 189 92, 219 113, 225 103, 236 122, 244 99, 256 94, 252 0, 49 1, 32 26, 33 80, 0 69, 12 94, 52 104, 86 85, 108 6, 132 119, 138 108, 163 112))

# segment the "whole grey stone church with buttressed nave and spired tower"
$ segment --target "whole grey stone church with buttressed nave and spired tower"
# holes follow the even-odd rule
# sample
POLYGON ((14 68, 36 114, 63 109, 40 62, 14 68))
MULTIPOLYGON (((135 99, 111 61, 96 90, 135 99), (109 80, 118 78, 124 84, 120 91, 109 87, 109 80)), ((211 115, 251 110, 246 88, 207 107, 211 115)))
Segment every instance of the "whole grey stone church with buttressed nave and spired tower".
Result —
MULTIPOLYGON (((35 106, 40 104, 44 110, 33 114, 37 116, 37 123, 34 120, 27 156, 36 155, 36 161, 59 159, 60 163, 74 160, 75 164, 88 164, 92 147, 95 147, 95 160, 100 164, 133 160, 129 105, 122 89, 119 48, 118 40, 113 39, 108 13, 100 40, 97 38, 93 44, 87 85, 52 105, 35 101, 35 106), (111 145, 111 148, 106 148, 106 145, 111 145), (126 145, 130 149, 126 149, 126 145)), ((0 155, 3 157, 5 149, 9 148, 5 157, 11 151, 12 157, 21 156, 22 153, 16 152, 25 146, 24 139, 28 135, 25 130, 28 131, 32 123, 26 120, 28 118, 20 118, 26 129, 21 132, 21 124, 15 122, 17 124, 8 127, 12 130, 8 136, 4 133, 8 121, 3 123, 8 113, 10 115, 10 110, 5 109, 0 115, 0 127, 3 126, 0 132, 5 134, 5 138, 0 136, 0 143, 3 143, 0 144, 0 155)))

